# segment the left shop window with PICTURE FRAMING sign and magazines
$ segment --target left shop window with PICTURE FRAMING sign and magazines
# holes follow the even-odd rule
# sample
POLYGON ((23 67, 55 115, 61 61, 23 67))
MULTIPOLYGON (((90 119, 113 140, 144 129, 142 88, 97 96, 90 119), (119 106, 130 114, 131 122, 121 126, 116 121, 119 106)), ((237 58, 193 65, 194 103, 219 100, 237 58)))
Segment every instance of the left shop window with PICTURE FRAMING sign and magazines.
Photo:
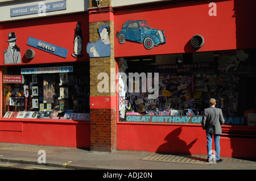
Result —
POLYGON ((6 66, 3 117, 90 120, 89 63, 6 66))

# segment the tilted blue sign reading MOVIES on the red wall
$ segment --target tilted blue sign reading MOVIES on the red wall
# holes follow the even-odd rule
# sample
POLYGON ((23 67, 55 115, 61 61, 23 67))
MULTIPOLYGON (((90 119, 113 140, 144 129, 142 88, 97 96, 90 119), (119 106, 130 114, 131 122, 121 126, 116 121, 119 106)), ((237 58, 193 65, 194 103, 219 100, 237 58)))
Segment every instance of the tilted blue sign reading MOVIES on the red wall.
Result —
POLYGON ((28 37, 27 45, 46 51, 48 53, 55 54, 63 58, 66 58, 68 54, 68 49, 58 47, 56 45, 47 43, 42 40, 35 39, 34 37, 30 37, 30 36, 28 37))

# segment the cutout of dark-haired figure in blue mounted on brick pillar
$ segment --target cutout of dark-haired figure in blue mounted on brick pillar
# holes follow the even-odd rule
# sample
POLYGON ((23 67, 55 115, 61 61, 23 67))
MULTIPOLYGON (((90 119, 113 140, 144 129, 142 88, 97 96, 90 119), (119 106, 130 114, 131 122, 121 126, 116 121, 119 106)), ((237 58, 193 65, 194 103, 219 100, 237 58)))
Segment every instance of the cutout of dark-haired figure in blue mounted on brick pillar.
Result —
POLYGON ((86 51, 89 57, 110 57, 111 56, 111 41, 109 39, 110 27, 105 24, 98 28, 100 40, 96 43, 88 43, 86 51))

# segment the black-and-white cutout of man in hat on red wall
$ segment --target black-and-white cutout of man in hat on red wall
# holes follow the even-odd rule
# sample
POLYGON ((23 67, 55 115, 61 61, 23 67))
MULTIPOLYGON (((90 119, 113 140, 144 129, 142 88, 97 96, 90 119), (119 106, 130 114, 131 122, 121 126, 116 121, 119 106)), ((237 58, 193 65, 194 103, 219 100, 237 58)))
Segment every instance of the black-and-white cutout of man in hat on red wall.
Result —
POLYGON ((20 49, 16 45, 18 37, 15 36, 15 32, 10 32, 8 37, 9 46, 5 50, 5 64, 21 64, 20 49))

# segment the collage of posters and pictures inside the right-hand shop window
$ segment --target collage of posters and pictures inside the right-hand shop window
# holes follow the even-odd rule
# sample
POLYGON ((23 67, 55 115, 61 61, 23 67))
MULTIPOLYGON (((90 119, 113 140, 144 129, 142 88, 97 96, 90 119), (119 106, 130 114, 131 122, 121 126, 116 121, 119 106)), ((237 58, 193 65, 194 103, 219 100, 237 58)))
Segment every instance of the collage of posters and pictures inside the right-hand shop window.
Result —
MULTIPOLYGON (((120 61, 119 61, 120 62, 120 61)), ((123 66, 119 72, 125 72, 123 66)), ((217 100, 217 107, 222 108, 224 116, 233 116, 237 112, 239 82, 236 75, 166 75, 159 77, 159 95, 148 99, 148 92, 125 92, 122 78, 119 78, 119 116, 125 121, 126 115, 199 115, 207 108, 210 98, 217 100)), ((154 78, 152 86, 154 87, 154 78)), ((136 82, 135 82, 136 84, 136 82)), ((128 90, 128 89, 127 89, 128 90)))

